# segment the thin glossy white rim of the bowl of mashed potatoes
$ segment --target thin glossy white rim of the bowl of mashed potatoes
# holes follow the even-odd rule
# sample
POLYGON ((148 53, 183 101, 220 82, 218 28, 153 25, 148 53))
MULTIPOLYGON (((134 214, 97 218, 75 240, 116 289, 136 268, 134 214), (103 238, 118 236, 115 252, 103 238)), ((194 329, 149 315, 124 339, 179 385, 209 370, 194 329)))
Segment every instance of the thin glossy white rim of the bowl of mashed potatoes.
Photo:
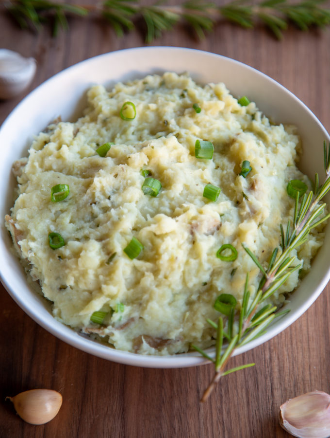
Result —
MULTIPOLYGON (((324 137, 329 141, 330 137, 327 133, 324 126, 321 124, 321 122, 316 118, 314 113, 309 110, 309 108, 295 96, 291 91, 287 90, 285 87, 283 87, 279 82, 275 81, 271 77, 267 76, 266 74, 260 72, 259 70, 248 66, 247 64, 244 64, 240 61, 237 61, 235 59, 229 58, 227 56, 223 55, 217 55, 211 52, 205 52, 202 50, 197 49, 190 49, 190 48, 183 48, 183 47, 170 47, 170 46, 147 46, 147 47, 135 47, 130 49, 122 49, 117 50, 110 53, 105 53, 102 55, 93 56, 90 58, 87 58, 77 64, 74 64, 65 70, 62 70, 59 73, 56 73, 55 75, 51 76, 49 79, 38 85, 33 91, 31 91, 17 106, 10 112, 10 114, 6 117, 3 124, 0 127, 0 138, 3 131, 5 131, 6 127, 10 123, 10 121, 16 116, 16 114, 20 111, 20 109, 27 105, 29 100, 33 99, 33 97, 40 93, 44 88, 47 88, 49 84, 51 84, 52 81, 57 81, 62 76, 67 75, 68 73, 74 72, 76 69, 83 68, 88 63, 96 62, 96 60, 106 59, 108 57, 114 57, 115 55, 123 55, 128 56, 132 54, 139 53, 142 57, 144 54, 152 53, 154 51, 157 51, 158 53, 162 53, 163 56, 165 56, 165 53, 172 52, 176 53, 177 55, 183 54, 183 53, 189 53, 192 55, 197 56, 206 56, 206 57, 213 57, 217 59, 222 59, 223 62, 227 62, 231 64, 232 66, 239 66, 240 68, 246 69, 246 71, 250 71, 253 74, 256 74, 259 78, 264 78, 268 82, 272 83, 274 86, 276 86, 279 90, 284 92, 288 95, 289 98, 296 101, 296 103, 301 106, 304 111, 307 112, 308 116, 311 117, 314 120, 314 123, 317 124, 320 131, 323 131, 324 137)), ((220 78, 221 79, 221 78, 220 78)), ((2 224, 2 239, 0 246, 3 245, 3 234, 6 232, 4 230, 4 226, 2 224)), ((315 257, 317 258, 317 256, 315 257)), ((17 263, 18 259, 17 259, 17 263)), ((260 336, 259 338, 249 342, 247 345, 243 347, 238 347, 234 355, 241 354, 243 352, 246 352, 252 348, 255 348, 264 342, 268 341, 272 337, 276 336, 278 333, 289 327, 294 321, 296 321, 316 300, 316 298, 319 296, 319 294, 322 292, 322 290, 327 285, 328 281, 330 280, 330 268, 328 268, 328 271, 323 275, 322 278, 318 279, 316 282, 315 287, 315 281, 312 283, 314 284, 314 292, 309 296, 307 300, 303 302, 303 304, 299 307, 298 310, 289 313, 285 316, 285 319, 283 320, 281 325, 275 325, 270 326, 269 329, 267 329, 267 332, 260 336)), ((179 353, 176 355, 167 355, 167 356, 146 356, 136 353, 131 353, 128 351, 123 350, 116 350, 109 345, 102 345, 97 343, 94 340, 86 339, 81 334, 78 334, 73 329, 68 328, 64 324, 57 321, 51 314, 51 323, 49 322, 49 316, 45 317, 45 315, 40 315, 39 313, 33 311, 33 308, 29 306, 29 303, 26 303, 23 298, 20 296, 20 294, 13 289, 11 281, 8 279, 8 275, 6 272, 4 272, 4 269, 2 266, 0 266, 0 281, 7 290, 7 292, 12 296, 12 298, 16 301, 19 307, 21 307, 25 313, 27 313, 35 322, 37 322, 40 326, 42 326, 44 329, 52 333, 57 338, 61 339, 62 341, 68 343, 69 345, 73 347, 77 347, 85 352, 88 352, 92 355, 101 357, 103 359, 112 360, 118 363, 127 364, 127 365, 135 365, 135 366, 144 366, 144 367, 153 367, 153 368, 176 368, 176 367, 188 367, 188 366, 195 366, 195 365, 201 365, 206 364, 208 361, 204 358, 202 358, 198 352, 188 352, 188 353, 179 353)), ((212 349, 210 351, 213 351, 212 349)), ((212 356, 212 354, 210 354, 212 356)))

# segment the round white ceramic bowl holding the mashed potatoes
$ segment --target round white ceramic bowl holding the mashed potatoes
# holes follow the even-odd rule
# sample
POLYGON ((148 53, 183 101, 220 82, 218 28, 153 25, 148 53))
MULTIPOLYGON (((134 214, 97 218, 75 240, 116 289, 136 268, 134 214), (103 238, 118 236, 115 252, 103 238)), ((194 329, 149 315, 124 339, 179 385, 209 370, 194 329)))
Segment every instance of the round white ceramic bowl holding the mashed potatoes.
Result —
MULTIPOLYGON (((310 177, 318 172, 322 180, 323 141, 329 141, 325 128, 314 114, 291 92, 247 65, 232 59, 174 47, 128 49, 87 59, 50 78, 29 94, 0 128, 0 217, 9 213, 13 202, 13 162, 27 155, 33 135, 57 116, 75 120, 83 108, 84 93, 95 83, 111 86, 116 81, 142 78, 148 73, 189 72, 200 83, 224 82, 236 96, 247 95, 260 110, 277 123, 298 127, 303 141, 300 168, 310 177)), ((147 367, 185 367, 205 363, 198 353, 175 356, 142 356, 101 345, 56 321, 49 305, 29 286, 18 259, 12 252, 12 240, 1 219, 0 277, 16 303, 49 332, 83 351, 115 362, 147 367)), ((291 311, 277 320, 257 340, 238 348, 236 354, 256 347, 293 323, 322 292, 330 278, 330 232, 313 262, 311 272, 291 296, 286 307, 291 311)))

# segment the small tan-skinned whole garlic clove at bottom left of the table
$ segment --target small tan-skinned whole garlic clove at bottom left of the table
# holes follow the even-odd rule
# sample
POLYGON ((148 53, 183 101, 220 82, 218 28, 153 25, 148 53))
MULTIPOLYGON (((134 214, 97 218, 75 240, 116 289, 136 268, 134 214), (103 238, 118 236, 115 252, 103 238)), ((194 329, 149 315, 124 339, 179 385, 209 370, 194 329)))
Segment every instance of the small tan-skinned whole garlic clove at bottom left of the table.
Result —
POLYGON ((52 420, 62 405, 62 395, 52 389, 31 389, 7 399, 14 403, 21 419, 31 424, 44 424, 52 420))

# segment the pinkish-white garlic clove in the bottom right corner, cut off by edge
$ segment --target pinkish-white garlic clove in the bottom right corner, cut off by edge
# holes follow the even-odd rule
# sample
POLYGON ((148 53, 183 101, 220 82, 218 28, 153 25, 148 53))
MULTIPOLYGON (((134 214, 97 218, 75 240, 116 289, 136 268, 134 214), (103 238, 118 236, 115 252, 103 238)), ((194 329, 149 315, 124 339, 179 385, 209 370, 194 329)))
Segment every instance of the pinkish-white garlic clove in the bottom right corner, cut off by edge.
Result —
POLYGON ((330 437, 329 394, 308 392, 283 403, 280 409, 281 426, 294 437, 330 437))

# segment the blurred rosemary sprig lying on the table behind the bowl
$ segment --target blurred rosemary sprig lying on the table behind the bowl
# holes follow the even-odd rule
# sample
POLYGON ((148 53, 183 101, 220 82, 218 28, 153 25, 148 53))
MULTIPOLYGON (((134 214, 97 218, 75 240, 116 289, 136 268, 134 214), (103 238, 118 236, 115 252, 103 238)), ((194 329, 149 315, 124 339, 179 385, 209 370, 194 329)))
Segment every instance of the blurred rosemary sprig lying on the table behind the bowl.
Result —
POLYGON ((30 24, 39 30, 44 23, 58 29, 68 28, 67 15, 102 16, 118 36, 132 31, 135 23, 144 21, 146 42, 173 29, 179 22, 188 24, 199 38, 212 32, 221 19, 241 27, 254 28, 257 23, 266 26, 277 38, 282 37, 288 24, 294 23, 301 30, 322 28, 330 24, 330 9, 322 3, 328 0, 233 0, 218 5, 208 0, 186 0, 180 5, 166 5, 165 1, 142 5, 134 0, 106 0, 90 5, 74 5, 49 0, 0 0, 17 23, 26 28, 30 24))

